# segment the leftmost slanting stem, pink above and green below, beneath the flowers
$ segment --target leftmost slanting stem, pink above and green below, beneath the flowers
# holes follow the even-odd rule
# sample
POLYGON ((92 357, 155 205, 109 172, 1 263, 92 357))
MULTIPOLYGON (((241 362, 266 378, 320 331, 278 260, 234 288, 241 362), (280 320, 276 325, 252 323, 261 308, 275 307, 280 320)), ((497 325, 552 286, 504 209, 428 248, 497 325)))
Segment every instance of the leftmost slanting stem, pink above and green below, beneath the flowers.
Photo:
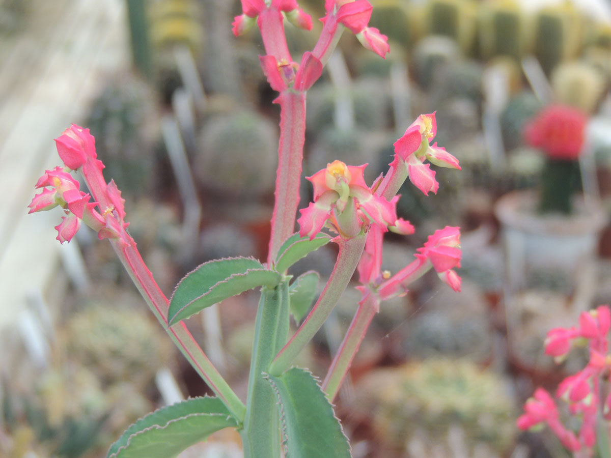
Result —
POLYGON ((174 341, 211 390, 214 391, 214 394, 224 402, 233 416, 238 421, 242 421, 246 407, 244 407, 240 398, 238 398, 219 371, 210 362, 207 355, 187 329, 185 323, 181 321, 170 328, 167 327, 169 301, 161 292, 161 289, 159 289, 153 274, 144 264, 142 256, 136 249, 136 242, 133 239, 130 240, 130 243, 123 241, 123 239, 111 239, 111 244, 117 256, 119 256, 119 260, 123 263, 128 274, 130 274, 134 285, 136 285, 138 291, 140 291, 140 294, 146 300, 148 307, 150 307, 159 323, 166 329, 172 341, 174 341))

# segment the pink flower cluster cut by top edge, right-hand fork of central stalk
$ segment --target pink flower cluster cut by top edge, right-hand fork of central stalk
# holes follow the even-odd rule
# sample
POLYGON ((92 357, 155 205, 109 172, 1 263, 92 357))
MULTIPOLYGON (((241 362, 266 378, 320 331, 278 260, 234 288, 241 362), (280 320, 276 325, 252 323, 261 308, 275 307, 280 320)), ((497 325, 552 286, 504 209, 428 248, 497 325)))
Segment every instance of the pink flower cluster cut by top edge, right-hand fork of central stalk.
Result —
POLYGON ((375 27, 368 27, 371 18, 370 2, 367 0, 326 0, 324 4, 326 16, 321 18, 325 26, 332 31, 342 24, 359 39, 365 48, 382 58, 390 52, 388 37, 382 35, 375 27))

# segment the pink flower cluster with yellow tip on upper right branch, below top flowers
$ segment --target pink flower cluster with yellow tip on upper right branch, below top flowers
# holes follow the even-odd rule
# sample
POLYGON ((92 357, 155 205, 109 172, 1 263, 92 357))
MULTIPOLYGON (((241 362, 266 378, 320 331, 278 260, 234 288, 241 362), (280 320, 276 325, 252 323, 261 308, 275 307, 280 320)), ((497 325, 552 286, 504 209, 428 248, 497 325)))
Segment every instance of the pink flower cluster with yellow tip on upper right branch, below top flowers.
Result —
POLYGON ((424 164, 426 159, 439 167, 461 169, 458 159, 445 148, 438 147, 437 143, 429 144, 436 134, 435 113, 420 115, 395 142, 395 159, 390 163, 393 169, 406 167, 409 180, 425 195, 431 191, 436 194, 439 189, 435 172, 430 164, 424 164))

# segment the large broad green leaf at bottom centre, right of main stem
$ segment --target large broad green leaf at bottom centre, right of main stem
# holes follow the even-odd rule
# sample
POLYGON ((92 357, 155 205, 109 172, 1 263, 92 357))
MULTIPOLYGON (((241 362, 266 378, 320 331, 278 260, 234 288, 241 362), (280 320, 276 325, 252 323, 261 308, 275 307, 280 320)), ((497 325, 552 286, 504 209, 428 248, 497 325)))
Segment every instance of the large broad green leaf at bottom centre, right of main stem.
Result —
POLYGON ((348 438, 309 371, 291 368, 268 380, 280 400, 287 458, 349 458, 348 438))

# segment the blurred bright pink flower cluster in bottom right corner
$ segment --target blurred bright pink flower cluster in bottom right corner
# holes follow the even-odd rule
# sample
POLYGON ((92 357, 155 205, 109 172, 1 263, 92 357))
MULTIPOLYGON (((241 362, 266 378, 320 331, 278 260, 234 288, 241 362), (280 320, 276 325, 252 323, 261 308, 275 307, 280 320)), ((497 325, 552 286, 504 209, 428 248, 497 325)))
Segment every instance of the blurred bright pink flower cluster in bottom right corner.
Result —
POLYGON ((567 449, 582 453, 580 456, 592 456, 601 407, 602 418, 611 420, 611 393, 606 394, 604 401, 601 397, 601 382, 611 369, 611 355, 607 354, 610 327, 609 306, 601 305, 580 314, 578 327, 555 328, 547 333, 545 352, 557 359, 566 357, 574 344, 588 344, 588 364, 577 374, 566 377, 556 391, 556 397, 568 404, 571 415, 581 418, 579 431, 574 432, 562 423, 554 399, 543 388, 537 388, 533 398, 526 401, 525 413, 518 418, 520 429, 547 424, 567 449))

